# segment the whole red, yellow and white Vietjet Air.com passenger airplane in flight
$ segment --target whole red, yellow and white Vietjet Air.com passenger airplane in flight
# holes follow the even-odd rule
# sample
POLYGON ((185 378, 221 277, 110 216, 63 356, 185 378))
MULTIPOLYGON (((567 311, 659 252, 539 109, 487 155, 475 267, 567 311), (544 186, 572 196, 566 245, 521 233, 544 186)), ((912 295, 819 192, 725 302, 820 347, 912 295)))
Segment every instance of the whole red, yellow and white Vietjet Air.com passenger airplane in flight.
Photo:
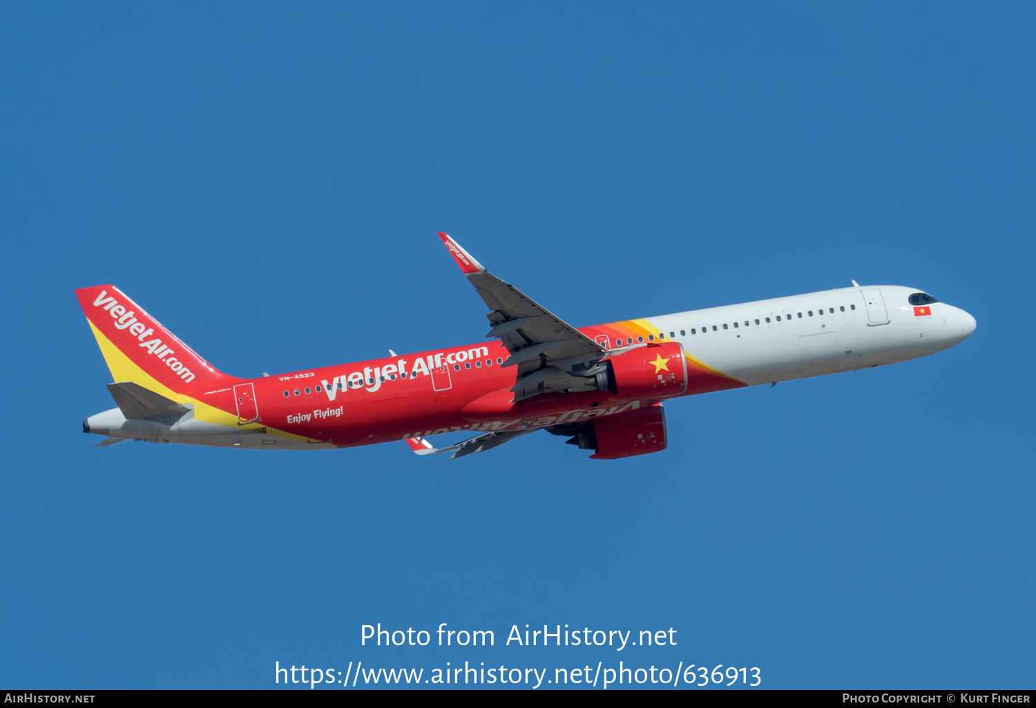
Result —
POLYGON ((873 368, 941 352, 975 318, 902 286, 859 286, 574 327, 439 233, 489 308, 489 343, 240 379, 223 374, 117 288, 77 290, 116 407, 83 421, 127 440, 313 450, 405 441, 461 458, 535 431, 593 460, 666 447, 663 404, 873 368), (428 438, 468 432, 442 448, 428 438))

